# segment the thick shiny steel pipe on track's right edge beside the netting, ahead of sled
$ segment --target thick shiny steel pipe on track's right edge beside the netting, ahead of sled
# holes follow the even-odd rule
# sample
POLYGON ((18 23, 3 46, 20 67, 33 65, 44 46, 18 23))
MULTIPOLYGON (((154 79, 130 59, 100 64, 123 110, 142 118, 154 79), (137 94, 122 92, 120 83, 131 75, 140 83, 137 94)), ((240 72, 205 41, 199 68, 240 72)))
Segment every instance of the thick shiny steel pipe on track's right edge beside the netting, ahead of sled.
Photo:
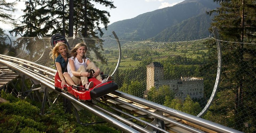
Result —
POLYGON ((221 124, 217 124, 217 123, 211 122, 209 120, 205 120, 205 119, 199 118, 197 116, 190 115, 190 114, 187 114, 187 113, 184 113, 184 112, 181 112, 181 111, 163 106, 161 104, 157 104, 157 103, 154 103, 154 102, 142 99, 142 98, 138 98, 138 97, 133 96, 133 95, 123 93, 121 91, 114 91, 113 94, 117 95, 117 96, 120 96, 122 98, 128 99, 128 100, 131 100, 133 102, 142 104, 144 106, 162 111, 166 114, 172 115, 172 116, 177 117, 179 119, 186 120, 188 122, 197 124, 199 126, 205 127, 207 129, 213 130, 215 132, 223 132, 223 133, 241 132, 241 131, 235 130, 233 128, 225 127, 221 124))

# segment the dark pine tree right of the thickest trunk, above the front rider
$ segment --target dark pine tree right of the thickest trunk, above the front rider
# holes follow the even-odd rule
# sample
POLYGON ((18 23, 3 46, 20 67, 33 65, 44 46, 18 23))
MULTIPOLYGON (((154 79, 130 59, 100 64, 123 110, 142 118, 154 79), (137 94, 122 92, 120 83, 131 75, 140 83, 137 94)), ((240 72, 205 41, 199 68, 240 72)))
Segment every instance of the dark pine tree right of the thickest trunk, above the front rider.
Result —
MULTIPOLYGON (((95 5, 93 5, 91 1, 92 0, 77 0, 74 3, 75 34, 80 31, 84 37, 96 37, 95 30, 98 30, 100 36, 102 36, 103 32, 99 26, 103 24, 105 29, 107 29, 110 14, 108 11, 95 8, 95 5)), ((94 0, 94 2, 100 3, 110 9, 116 8, 111 1, 94 0)))

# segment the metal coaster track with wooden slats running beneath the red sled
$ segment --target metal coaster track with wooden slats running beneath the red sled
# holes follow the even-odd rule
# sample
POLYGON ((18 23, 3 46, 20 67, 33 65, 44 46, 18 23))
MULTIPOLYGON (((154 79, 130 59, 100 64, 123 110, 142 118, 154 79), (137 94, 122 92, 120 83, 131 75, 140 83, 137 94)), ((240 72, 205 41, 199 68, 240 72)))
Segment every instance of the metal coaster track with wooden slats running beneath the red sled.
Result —
MULTIPOLYGON (((29 94, 26 94, 25 92, 41 89, 44 92, 43 106, 41 110, 42 114, 44 114, 44 104, 47 97, 49 98, 49 92, 53 91, 69 99, 76 110, 89 110, 124 132, 239 132, 232 128, 120 91, 115 91, 112 94, 103 96, 101 99, 97 98, 92 101, 78 101, 74 96, 65 92, 58 92, 54 89, 53 78, 56 70, 6 55, 0 55, 0 62, 20 73, 23 79, 30 78, 34 84, 41 84, 41 88, 32 87, 31 89, 21 92, 21 95, 28 96, 29 94), (104 108, 95 103, 99 103, 104 106, 104 108), (114 111, 110 112, 105 108, 111 108, 111 110, 114 111), (124 118, 117 114, 123 114, 122 116, 126 117, 124 118), (145 119, 140 118, 145 118, 147 120, 145 121, 145 119)), ((55 101, 56 100, 57 98, 55 101)), ((53 103, 55 103, 55 101, 53 103)), ((79 119, 77 119, 77 121, 79 122, 79 119)))

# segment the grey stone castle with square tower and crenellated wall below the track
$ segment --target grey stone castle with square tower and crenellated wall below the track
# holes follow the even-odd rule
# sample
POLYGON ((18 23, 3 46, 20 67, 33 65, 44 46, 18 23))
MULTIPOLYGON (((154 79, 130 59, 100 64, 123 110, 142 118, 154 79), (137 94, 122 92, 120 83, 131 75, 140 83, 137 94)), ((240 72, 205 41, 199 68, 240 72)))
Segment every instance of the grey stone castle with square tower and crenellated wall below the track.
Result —
MULTIPOLYGON (((175 98, 184 100, 187 95, 192 99, 203 98, 203 79, 197 77, 181 77, 180 79, 165 80, 163 65, 159 62, 152 62, 147 65, 147 91, 151 87, 159 88, 162 85, 170 86, 175 93, 175 98)), ((145 94, 147 95, 147 94, 145 94)))

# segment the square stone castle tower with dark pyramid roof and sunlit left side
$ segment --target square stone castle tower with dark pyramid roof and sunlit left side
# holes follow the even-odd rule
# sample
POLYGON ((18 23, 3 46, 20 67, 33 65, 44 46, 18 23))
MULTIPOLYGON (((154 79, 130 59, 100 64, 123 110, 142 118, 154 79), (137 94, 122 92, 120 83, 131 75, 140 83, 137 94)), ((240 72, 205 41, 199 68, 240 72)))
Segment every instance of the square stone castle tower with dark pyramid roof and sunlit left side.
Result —
POLYGON ((159 87, 158 84, 155 84, 155 81, 163 79, 163 65, 159 62, 152 62, 147 65, 147 90, 151 87, 159 87))

